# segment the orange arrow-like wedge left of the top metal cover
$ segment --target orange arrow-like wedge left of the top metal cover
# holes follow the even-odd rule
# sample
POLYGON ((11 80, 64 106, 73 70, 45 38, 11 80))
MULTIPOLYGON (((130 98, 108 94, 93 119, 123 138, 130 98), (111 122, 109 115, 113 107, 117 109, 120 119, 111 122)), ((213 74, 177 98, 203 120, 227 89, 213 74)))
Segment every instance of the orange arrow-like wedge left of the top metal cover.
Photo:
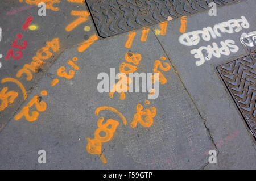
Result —
POLYGON ((77 18, 75 21, 73 21, 66 27, 66 31, 68 31, 68 32, 72 31, 74 28, 76 28, 80 24, 86 22, 90 13, 88 11, 73 11, 72 10, 71 15, 72 16, 80 16, 80 17, 77 18))

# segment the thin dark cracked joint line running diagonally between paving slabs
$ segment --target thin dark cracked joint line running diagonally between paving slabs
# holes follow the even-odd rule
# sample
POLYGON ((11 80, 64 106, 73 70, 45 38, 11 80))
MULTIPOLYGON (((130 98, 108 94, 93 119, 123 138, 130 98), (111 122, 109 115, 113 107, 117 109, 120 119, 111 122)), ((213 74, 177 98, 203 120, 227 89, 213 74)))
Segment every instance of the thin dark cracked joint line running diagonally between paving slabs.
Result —
MULTIPOLYGON (((151 30, 151 31, 152 31, 152 30, 151 30)), ((154 33, 154 31, 153 31, 153 33, 154 33)), ((158 37, 155 35, 155 33, 154 33, 154 36, 156 37, 156 40, 158 40, 158 43, 159 43, 160 47, 162 47, 164 53, 166 54, 168 60, 170 61, 171 65, 172 65, 172 68, 174 69, 175 73, 176 73, 177 76, 179 77, 180 82, 182 83, 182 85, 183 85, 185 91, 187 92, 189 98, 191 99, 191 101, 193 102, 194 106, 196 107, 197 113, 199 113, 199 116, 200 116, 201 119, 203 120, 204 127, 205 127, 205 129, 206 129, 206 131, 207 131, 207 133, 208 133, 208 136, 210 137, 210 141, 212 142, 213 146, 214 146, 215 149, 217 150, 217 155, 218 155, 218 154, 220 153, 220 151, 218 150, 218 148, 217 148, 217 146, 216 146, 216 144, 215 144, 215 141, 213 140, 213 137, 212 137, 212 135, 210 134, 209 128, 208 128, 207 125, 205 124, 207 120, 205 120, 205 119, 203 118, 203 116, 201 115, 201 113, 200 113, 200 111, 199 111, 199 108, 196 106, 196 103, 195 103, 195 101, 192 99, 191 94, 188 92, 187 88, 185 87, 184 82, 182 81, 182 78, 181 78, 180 75, 179 75, 179 72, 178 72, 177 69, 175 68, 174 64, 173 64, 172 61, 171 61, 171 58, 168 56, 166 50, 163 48, 163 45, 160 43, 160 41, 159 41, 158 37)))

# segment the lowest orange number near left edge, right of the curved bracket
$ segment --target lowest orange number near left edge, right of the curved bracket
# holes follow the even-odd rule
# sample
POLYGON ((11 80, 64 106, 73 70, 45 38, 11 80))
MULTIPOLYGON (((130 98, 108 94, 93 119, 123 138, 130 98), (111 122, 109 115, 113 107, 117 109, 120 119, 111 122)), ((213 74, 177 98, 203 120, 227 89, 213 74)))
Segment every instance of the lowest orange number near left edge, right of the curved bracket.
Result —
MULTIPOLYGON (((47 92, 45 91, 43 94, 47 94, 47 92)), ((46 111, 46 108, 47 108, 46 102, 44 102, 43 100, 41 100, 39 102, 38 100, 40 100, 39 96, 38 95, 34 96, 30 100, 30 102, 28 102, 27 106, 24 106, 22 108, 22 110, 14 117, 14 120, 18 121, 19 119, 21 119, 24 116, 26 118, 26 120, 29 122, 36 121, 38 119, 39 112, 44 112, 44 111, 46 111), (34 105, 35 105, 36 110, 38 110, 39 112, 32 111, 31 115, 30 115, 30 113, 29 113, 30 107, 32 107, 34 105)))

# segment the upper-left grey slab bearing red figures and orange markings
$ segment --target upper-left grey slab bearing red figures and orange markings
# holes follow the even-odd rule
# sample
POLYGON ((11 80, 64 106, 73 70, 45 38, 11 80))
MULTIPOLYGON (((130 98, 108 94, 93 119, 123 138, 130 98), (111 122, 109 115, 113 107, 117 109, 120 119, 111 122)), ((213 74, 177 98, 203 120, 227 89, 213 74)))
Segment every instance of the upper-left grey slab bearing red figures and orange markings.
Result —
MULTIPOLYGON (((86 17, 87 20, 85 22, 77 24, 73 29, 72 27, 67 28, 69 24, 76 21, 78 18, 81 18, 80 16, 72 15, 72 11, 87 11, 84 2, 72 3, 71 1, 60 1, 60 3, 53 4, 53 7, 57 8, 56 11, 55 8, 46 10, 46 16, 39 16, 39 7, 36 7, 33 4, 31 5, 29 2, 35 1, 24 0, 20 3, 19 1, 14 0, 4 0, 0 2, 0 27, 2 29, 2 39, 0 42, 0 54, 2 54, 2 56, 0 56, 2 57, 0 58, 0 79, 18 79, 18 81, 20 81, 24 86, 27 94, 31 92, 32 87, 38 79, 42 77, 44 71, 49 68, 52 62, 56 60, 63 50, 82 43, 96 33, 90 17, 86 17), (33 20, 31 25, 37 26, 37 30, 31 31, 28 29, 24 31, 22 29, 22 26, 26 22, 28 16, 32 16, 33 20), (90 31, 88 31, 88 27, 86 29, 87 31, 84 31, 85 26, 89 26, 90 31), (27 48, 22 50, 23 56, 19 60, 15 60, 14 58, 5 60, 9 49, 14 50, 15 56, 15 52, 19 50, 18 48, 11 47, 13 41, 17 39, 16 35, 18 33, 21 33, 23 36, 22 39, 20 39, 21 41, 27 41, 27 48), (32 58, 37 56, 37 51, 46 47, 46 42, 50 42, 55 38, 59 40, 59 50, 52 52, 50 49, 53 54, 47 60, 43 60, 45 63, 42 68, 34 70, 37 72, 30 70, 32 73, 32 79, 27 81, 26 74, 23 74, 19 78, 16 77, 18 71, 22 69, 25 64, 31 64, 32 58)), ((20 40, 18 41, 18 44, 21 44, 20 40)), ((43 53, 43 55, 45 54, 43 53)), ((1 83, 0 90, 2 90, 3 87, 8 87, 8 91, 17 92, 19 96, 13 103, 9 104, 8 107, 0 111, 0 130, 10 120, 15 110, 19 108, 20 104, 24 102, 22 91, 15 83, 1 83)))

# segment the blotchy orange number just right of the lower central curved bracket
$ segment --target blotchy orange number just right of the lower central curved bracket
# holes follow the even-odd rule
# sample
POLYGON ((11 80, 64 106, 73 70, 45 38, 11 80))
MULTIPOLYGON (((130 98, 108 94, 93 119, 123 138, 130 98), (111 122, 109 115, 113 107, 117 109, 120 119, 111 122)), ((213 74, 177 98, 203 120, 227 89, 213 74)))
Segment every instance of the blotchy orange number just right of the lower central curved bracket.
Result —
POLYGON ((143 106, 141 104, 138 104, 136 110, 137 113, 135 113, 133 121, 130 124, 131 128, 135 128, 137 126, 137 123, 141 124, 145 128, 150 127, 154 122, 153 118, 156 115, 156 108, 151 106, 150 110, 146 109, 142 111, 143 106))

